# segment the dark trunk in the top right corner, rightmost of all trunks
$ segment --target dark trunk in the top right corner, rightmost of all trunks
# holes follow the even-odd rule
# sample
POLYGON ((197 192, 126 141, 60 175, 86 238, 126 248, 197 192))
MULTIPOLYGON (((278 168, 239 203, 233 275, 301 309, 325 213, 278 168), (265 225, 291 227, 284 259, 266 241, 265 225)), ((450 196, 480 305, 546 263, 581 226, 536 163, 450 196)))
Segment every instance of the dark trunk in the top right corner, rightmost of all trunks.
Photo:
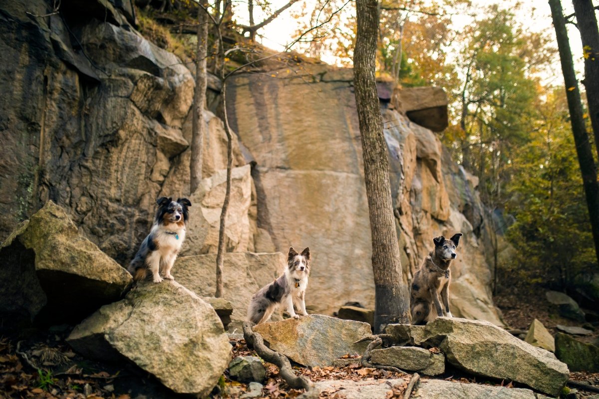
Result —
POLYGON ((576 26, 585 51, 586 101, 589 105, 591 126, 595 136, 595 150, 599 155, 599 30, 591 0, 573 0, 576 26))

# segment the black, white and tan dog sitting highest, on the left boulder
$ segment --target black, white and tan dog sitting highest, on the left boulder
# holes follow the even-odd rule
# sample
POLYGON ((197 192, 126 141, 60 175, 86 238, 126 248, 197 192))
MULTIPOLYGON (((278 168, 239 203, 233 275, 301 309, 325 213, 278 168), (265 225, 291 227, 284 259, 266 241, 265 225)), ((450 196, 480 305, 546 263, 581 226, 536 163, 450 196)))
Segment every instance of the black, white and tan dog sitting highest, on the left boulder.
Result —
POLYGON ((152 230, 129 264, 129 273, 135 281, 146 279, 148 269, 152 272, 154 282, 162 281, 161 271, 165 279, 173 280, 171 268, 185 239, 185 227, 189 218, 187 208, 191 206, 191 202, 186 198, 173 201, 171 198, 161 197, 156 203, 158 211, 152 230))

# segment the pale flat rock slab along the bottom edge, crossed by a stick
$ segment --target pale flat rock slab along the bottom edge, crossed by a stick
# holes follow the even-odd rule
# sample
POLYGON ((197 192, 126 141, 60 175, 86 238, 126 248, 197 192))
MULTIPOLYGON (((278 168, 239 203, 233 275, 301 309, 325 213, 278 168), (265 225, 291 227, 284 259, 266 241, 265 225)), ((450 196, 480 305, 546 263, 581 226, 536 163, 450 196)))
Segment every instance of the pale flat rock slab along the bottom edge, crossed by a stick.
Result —
MULTIPOLYGON (((380 380, 325 380, 316 382, 315 385, 321 392, 328 396, 338 393, 344 399, 388 399, 394 393, 403 392, 407 386, 404 379, 380 380)), ((545 399, 530 389, 506 388, 504 386, 478 385, 474 383, 461 383, 444 380, 420 380, 419 385, 412 392, 413 398, 422 399, 545 399)))

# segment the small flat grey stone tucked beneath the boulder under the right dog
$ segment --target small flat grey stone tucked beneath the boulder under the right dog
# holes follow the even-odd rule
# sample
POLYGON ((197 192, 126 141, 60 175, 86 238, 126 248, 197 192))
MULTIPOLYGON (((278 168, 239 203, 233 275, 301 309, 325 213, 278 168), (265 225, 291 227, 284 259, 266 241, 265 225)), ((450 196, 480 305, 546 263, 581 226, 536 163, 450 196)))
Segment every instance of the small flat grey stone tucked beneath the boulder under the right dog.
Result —
MULTIPOLYGON (((437 349, 438 351, 438 349, 437 349)), ((428 376, 437 376, 445 371, 445 356, 416 346, 391 346, 374 349, 370 362, 383 366, 394 366, 400 370, 418 371, 428 376)))

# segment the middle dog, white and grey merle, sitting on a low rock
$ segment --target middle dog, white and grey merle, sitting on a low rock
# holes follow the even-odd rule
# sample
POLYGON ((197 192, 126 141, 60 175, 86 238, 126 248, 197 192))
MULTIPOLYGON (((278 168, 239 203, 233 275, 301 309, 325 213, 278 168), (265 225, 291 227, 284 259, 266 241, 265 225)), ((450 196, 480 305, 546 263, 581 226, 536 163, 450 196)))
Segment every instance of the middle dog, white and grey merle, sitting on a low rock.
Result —
POLYGON ((310 248, 298 254, 293 247, 289 248, 285 272, 275 281, 262 287, 250 301, 247 319, 255 324, 267 322, 279 304, 285 304, 291 317, 298 319, 298 312, 307 316, 305 311, 305 289, 310 276, 310 248))

